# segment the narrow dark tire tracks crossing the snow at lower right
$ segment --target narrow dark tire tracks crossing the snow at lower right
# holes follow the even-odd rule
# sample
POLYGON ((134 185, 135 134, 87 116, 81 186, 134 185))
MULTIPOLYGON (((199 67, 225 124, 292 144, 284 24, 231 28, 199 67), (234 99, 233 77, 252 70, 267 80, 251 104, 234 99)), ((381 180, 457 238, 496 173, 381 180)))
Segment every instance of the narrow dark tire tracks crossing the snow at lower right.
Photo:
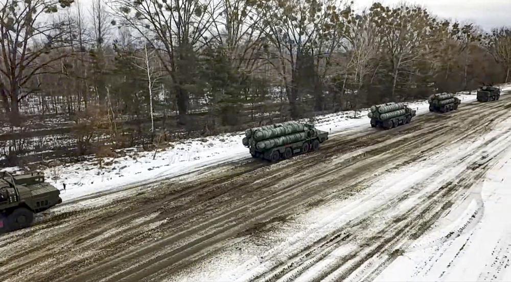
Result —
MULTIPOLYGON (((485 172, 485 171, 484 171, 485 172)), ((478 175, 483 175, 484 172, 479 173, 478 175)), ((440 174, 441 170, 437 171, 436 174, 440 174)), ((472 173, 472 172, 471 172, 472 173)), ((462 177, 464 174, 468 174, 468 171, 464 171, 457 175, 457 177, 462 177)), ((477 178, 477 177, 476 177, 477 178)), ((387 228, 383 228, 381 230, 378 230, 375 232, 373 236, 360 236, 360 233, 364 233, 364 230, 366 226, 368 225, 368 222, 371 220, 373 216, 375 216, 378 213, 384 212, 385 210, 392 209, 393 207, 389 207, 388 205, 382 205, 377 210, 372 212, 368 216, 364 216, 363 218, 358 218, 356 220, 353 220, 353 222, 350 222, 347 225, 346 228, 343 228, 338 233, 331 233, 328 236, 323 237, 321 240, 318 240, 315 245, 319 245, 317 248, 315 246, 311 247, 310 249, 306 249, 304 251, 307 251, 307 253, 304 253, 302 251, 300 253, 301 257, 298 257, 296 255, 294 257, 294 261, 291 262, 288 266, 301 266, 296 268, 287 268, 282 269, 280 272, 273 273, 270 276, 266 276, 266 274, 259 275, 254 278, 254 280, 257 281, 291 281, 299 277, 301 274, 305 273, 310 267, 314 266, 316 263, 319 263, 321 260, 323 260, 325 257, 330 255, 335 249, 342 247, 342 245, 347 242, 347 238, 350 238, 352 240, 357 240, 358 237, 362 237, 362 241, 357 242, 357 250, 353 251, 340 259, 338 259, 335 262, 334 266, 330 266, 330 268, 323 272, 321 276, 315 277, 314 281, 320 281, 324 278, 327 278, 330 274, 332 274, 334 271, 339 269, 341 266, 350 263, 352 260, 356 260, 356 262, 350 266, 347 271, 344 272, 344 275, 335 277, 336 280, 344 280, 351 274, 353 271, 358 269, 362 264, 366 263, 369 259, 371 259, 376 254, 382 255, 385 254, 389 256, 392 260, 395 259, 396 255, 396 249, 392 248, 391 243, 396 240, 393 244, 398 244, 399 240, 398 238, 402 237, 419 237, 424 231, 428 229, 428 227, 438 219, 438 217, 446 212, 446 209, 452 204, 450 201, 452 198, 455 198, 455 196, 452 196, 450 198, 447 198, 446 196, 449 196, 448 194, 452 191, 455 191, 455 187, 460 186, 462 183, 467 183, 467 185, 463 185, 463 187, 466 187, 468 189, 472 183, 471 181, 473 178, 463 178, 463 181, 452 183, 449 182, 445 184, 444 186, 440 187, 437 191, 434 192, 434 194, 429 195, 428 197, 424 197, 423 201, 408 209, 406 213, 402 214, 400 218, 392 219, 391 222, 395 224, 399 229, 392 230, 391 232, 388 231, 387 228), (469 185, 470 183, 470 185, 469 185), (449 193, 447 193, 447 192, 449 193), (439 199, 442 199, 440 201, 439 199), (414 213, 417 213, 417 209, 421 210, 422 206, 426 206, 426 208, 423 208, 422 211, 417 214, 416 216, 413 216, 414 213), (434 207, 441 206, 441 208, 434 213, 432 217, 426 217, 427 213, 432 210, 434 207), (413 216, 413 217, 411 217, 413 216), (424 221, 424 219, 427 219, 424 221), (404 224, 405 223, 405 224, 404 224), (401 226, 403 225, 403 226, 401 226), (400 227, 401 226, 401 227, 400 227), (416 231, 414 231, 417 229, 416 231), (406 232, 405 232, 406 231, 406 232), (391 236, 386 236, 386 234, 389 233, 391 236), (379 235, 378 235, 379 234, 379 235), (382 236, 381 234, 385 234, 382 236), (379 240, 378 240, 379 239, 379 240), (377 243, 371 244, 372 242, 377 243), (365 254, 364 256, 360 257, 358 256, 360 253, 363 253, 364 250, 369 249, 369 252, 365 254), (383 249, 383 251, 382 251, 383 249), (300 263, 301 261, 301 263, 300 263), (288 275, 289 273, 292 273, 292 275, 288 275), (285 279, 282 279, 285 274, 285 279)), ((408 198, 408 196, 411 194, 412 190, 417 190, 419 187, 411 187, 407 192, 405 192, 404 195, 401 195, 397 197, 396 199, 398 202, 408 198)), ((291 260, 288 260, 291 261, 291 260)), ((390 263, 391 260, 385 261, 385 263, 390 263)), ((270 272, 273 272, 275 269, 270 270, 270 272)), ((373 275, 375 273, 372 273, 373 275)), ((363 277, 364 280, 367 280, 368 277, 363 277)), ((362 278, 359 277, 360 280, 362 278)), ((370 279, 369 279, 370 280, 370 279)))

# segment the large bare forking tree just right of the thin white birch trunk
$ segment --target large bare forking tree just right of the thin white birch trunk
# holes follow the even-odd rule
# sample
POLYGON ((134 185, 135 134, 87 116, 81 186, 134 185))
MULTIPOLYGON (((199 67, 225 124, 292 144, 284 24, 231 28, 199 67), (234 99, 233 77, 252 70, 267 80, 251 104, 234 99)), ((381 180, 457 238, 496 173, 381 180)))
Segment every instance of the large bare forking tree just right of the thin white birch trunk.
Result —
POLYGON ((160 51, 156 54, 171 77, 179 121, 186 124, 196 54, 212 40, 219 4, 213 0, 112 0, 111 4, 122 25, 131 27, 160 51))

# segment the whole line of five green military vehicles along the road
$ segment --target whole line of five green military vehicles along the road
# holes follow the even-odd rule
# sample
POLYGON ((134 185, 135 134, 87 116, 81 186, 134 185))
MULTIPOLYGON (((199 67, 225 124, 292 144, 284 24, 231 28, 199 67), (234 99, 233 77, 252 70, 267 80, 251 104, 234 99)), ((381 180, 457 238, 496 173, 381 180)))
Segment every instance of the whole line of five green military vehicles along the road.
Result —
MULTIPOLYGON (((481 86, 477 101, 489 102, 500 98, 500 89, 481 86)), ((429 110, 445 113, 458 108, 460 100, 451 93, 431 95, 429 110)), ((370 107, 371 127, 391 129, 411 122, 415 110, 403 103, 385 103, 370 107)), ((245 131, 243 145, 254 158, 272 162, 289 159, 293 155, 319 149, 328 140, 328 132, 309 123, 285 122, 245 131)), ((44 182, 41 174, 11 175, 4 172, 0 178, 0 233, 31 226, 34 214, 60 204, 60 191, 44 182)))

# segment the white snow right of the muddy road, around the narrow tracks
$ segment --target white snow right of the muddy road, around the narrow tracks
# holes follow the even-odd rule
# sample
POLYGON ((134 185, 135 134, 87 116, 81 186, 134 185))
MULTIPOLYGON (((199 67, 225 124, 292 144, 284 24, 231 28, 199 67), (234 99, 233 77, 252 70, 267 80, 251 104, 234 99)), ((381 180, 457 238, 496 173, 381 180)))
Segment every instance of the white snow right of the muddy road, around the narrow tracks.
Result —
MULTIPOLYGON (((238 238, 229 248, 195 266, 197 271, 184 273, 183 276, 169 281, 251 281, 263 274, 271 277, 272 273, 278 275, 282 272, 287 274, 278 281, 360 281, 375 278, 378 281, 509 281, 509 145, 511 120, 500 123, 479 139, 452 140, 452 143, 446 143, 441 151, 415 162, 413 166, 405 166, 383 178, 376 177, 370 187, 359 195, 353 195, 350 201, 334 200, 312 208, 310 212, 281 223, 265 234, 265 238, 255 242, 238 238), (408 240, 396 243, 396 249, 403 254, 378 277, 367 276, 367 273, 377 272, 377 268, 384 265, 382 262, 388 259, 383 249, 380 250, 382 254, 378 259, 371 259, 359 267, 365 276, 358 276, 358 273, 354 272, 341 279, 343 272, 356 263, 357 257, 343 265, 339 265, 339 261, 360 250, 361 246, 330 243, 335 242, 335 237, 325 239, 323 245, 318 243, 323 242, 322 238, 329 238, 336 230, 343 228, 346 235, 356 232, 358 236, 355 237, 371 238, 374 232, 383 237, 382 230, 353 228, 349 223, 368 217, 373 210, 386 210, 385 213, 375 214, 376 218, 371 220, 379 223, 374 224, 377 227, 393 225, 392 222, 398 215, 414 209, 421 199, 433 195, 438 187, 453 181, 474 164, 484 165, 489 161, 492 162, 492 168, 485 174, 484 179, 480 179, 480 184, 471 187, 469 197, 455 203, 456 208, 453 208, 447 217, 435 223, 436 225, 413 245, 408 246, 408 240), (410 194, 406 200, 398 200, 410 191, 414 194, 410 194), (365 233, 367 235, 362 235, 365 233), (317 249, 309 249, 308 246, 315 246, 317 249), (321 276, 322 272, 328 273, 329 269, 335 271, 321 276)), ((387 171, 391 168, 392 164, 389 163, 388 168, 384 166, 381 170, 387 171)), ((375 176, 378 174, 378 171, 374 172, 375 176)), ((399 228, 398 223, 395 225, 395 228, 399 228)), ((363 243, 359 244, 363 246, 363 243)))

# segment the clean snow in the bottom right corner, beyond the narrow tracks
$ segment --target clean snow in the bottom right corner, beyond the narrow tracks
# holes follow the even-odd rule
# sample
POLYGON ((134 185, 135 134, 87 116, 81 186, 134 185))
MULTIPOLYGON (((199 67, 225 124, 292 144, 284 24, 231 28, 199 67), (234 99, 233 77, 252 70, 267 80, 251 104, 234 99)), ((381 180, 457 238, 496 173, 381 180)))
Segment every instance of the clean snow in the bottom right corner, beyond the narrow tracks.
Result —
MULTIPOLYGON (((507 121, 507 128, 511 121, 507 121)), ((511 147, 377 281, 511 281, 511 147), (455 230, 456 232, 452 232, 455 230)))

